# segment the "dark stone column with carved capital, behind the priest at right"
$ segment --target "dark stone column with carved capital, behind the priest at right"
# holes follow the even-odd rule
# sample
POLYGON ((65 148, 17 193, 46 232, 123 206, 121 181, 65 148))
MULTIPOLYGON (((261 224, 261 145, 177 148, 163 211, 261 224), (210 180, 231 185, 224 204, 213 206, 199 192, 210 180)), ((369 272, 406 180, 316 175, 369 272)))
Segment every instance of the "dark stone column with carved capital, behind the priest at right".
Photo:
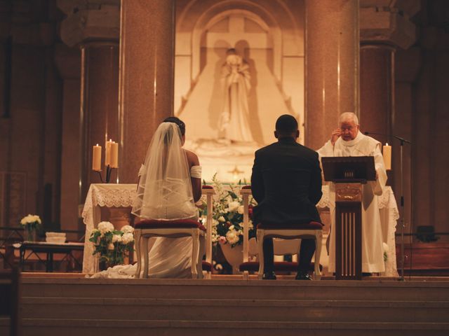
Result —
POLYGON ((414 43, 415 26, 403 8, 385 7, 382 3, 370 1, 360 9, 360 123, 363 131, 387 134, 373 137, 391 143, 394 52, 414 43))

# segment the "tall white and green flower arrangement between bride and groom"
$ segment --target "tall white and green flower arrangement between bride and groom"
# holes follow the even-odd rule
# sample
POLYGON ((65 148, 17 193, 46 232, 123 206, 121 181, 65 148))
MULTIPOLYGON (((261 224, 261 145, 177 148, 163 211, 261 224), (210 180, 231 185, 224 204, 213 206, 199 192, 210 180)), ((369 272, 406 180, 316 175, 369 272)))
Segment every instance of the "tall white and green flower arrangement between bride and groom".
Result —
MULTIPOLYGON (((213 200, 212 215, 212 242, 213 244, 230 244, 231 247, 243 244, 243 199, 238 195, 242 186, 241 181, 238 184, 230 184, 229 189, 218 181, 217 174, 212 178, 215 197, 213 200)), ((255 237, 255 230, 251 217, 253 215, 253 206, 256 204, 253 197, 249 200, 249 228, 248 238, 255 237)), ((206 205, 206 204, 204 204, 206 205)), ((206 211, 202 211, 203 222, 206 221, 206 211)))

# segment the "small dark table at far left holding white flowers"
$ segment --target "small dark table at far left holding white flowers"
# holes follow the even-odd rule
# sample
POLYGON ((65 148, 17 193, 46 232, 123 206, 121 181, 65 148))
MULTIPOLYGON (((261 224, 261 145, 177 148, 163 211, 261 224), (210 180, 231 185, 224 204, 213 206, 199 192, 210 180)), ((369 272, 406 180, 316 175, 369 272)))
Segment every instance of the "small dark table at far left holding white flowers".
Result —
POLYGON ((76 260, 74 255, 72 255, 72 251, 83 251, 84 243, 47 243, 45 241, 24 241, 22 243, 14 244, 15 248, 19 248, 20 250, 20 269, 23 271, 23 266, 25 264, 25 260, 27 260, 32 254, 36 255, 39 261, 43 262, 46 265, 46 272, 53 272, 53 254, 54 253, 63 253, 65 257, 62 258, 72 258, 75 260, 76 264, 81 267, 81 263, 76 260), (26 251, 30 251, 28 255, 26 251), (43 260, 37 253, 46 253, 46 259, 43 260))

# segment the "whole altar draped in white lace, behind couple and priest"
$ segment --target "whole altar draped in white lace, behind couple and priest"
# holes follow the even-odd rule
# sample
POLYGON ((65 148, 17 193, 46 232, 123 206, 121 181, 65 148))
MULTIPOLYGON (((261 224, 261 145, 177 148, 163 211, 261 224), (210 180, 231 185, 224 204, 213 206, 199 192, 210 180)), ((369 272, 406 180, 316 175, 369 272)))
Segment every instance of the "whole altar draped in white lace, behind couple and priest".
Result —
MULTIPOLYGON (((83 222, 86 225, 83 273, 98 272, 97 258, 92 254, 93 244, 89 241, 89 237, 91 237, 92 230, 102 221, 101 207, 130 208, 133 206, 136 190, 136 184, 91 184, 82 212, 83 222)), ((390 186, 384 189, 384 193, 380 196, 379 204, 383 241, 388 246, 385 272, 382 275, 397 276, 395 232, 399 212, 390 186)), ((328 186, 323 186, 323 196, 316 206, 322 211, 323 209, 328 209, 329 205, 329 188, 328 186)), ((323 246, 323 248, 326 248, 326 246, 323 246)), ((322 255, 324 252, 322 252, 322 255)))

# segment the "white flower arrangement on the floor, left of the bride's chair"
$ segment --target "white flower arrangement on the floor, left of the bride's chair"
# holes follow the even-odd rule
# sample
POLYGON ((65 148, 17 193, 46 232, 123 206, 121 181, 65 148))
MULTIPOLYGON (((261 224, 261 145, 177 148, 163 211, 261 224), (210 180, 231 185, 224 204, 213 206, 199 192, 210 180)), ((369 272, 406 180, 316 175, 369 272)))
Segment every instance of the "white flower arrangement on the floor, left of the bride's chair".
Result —
POLYGON ((100 222, 98 229, 93 229, 89 241, 95 246, 93 255, 100 255, 100 264, 107 266, 122 265, 124 258, 133 253, 134 228, 125 225, 115 230, 110 222, 100 222))

